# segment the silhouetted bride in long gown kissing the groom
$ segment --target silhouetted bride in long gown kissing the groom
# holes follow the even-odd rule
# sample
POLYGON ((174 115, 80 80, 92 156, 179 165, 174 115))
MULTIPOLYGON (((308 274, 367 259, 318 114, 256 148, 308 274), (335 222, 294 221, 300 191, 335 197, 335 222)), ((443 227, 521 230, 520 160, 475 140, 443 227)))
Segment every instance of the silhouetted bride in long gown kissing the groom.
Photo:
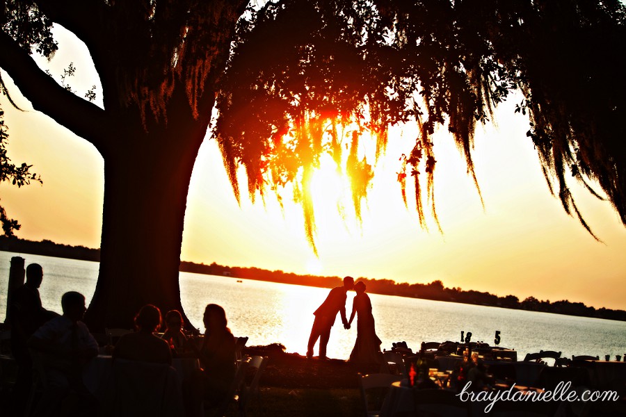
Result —
POLYGON ((383 361, 383 354, 380 352, 380 339, 376 336, 374 327, 374 316, 371 314, 371 301, 369 295, 365 293, 365 283, 358 281, 354 284, 354 296, 352 304, 352 313, 348 326, 354 320, 355 314, 357 319, 357 340, 354 344, 350 361, 356 365, 374 365, 383 361))

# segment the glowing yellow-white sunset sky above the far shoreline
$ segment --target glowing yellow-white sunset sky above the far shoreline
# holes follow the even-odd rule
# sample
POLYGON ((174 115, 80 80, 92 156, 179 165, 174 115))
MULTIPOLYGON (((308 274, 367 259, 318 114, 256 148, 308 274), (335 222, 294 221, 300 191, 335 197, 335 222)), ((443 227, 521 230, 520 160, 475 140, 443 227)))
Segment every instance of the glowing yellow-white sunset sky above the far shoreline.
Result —
MULTIPOLYGON (((40 60, 42 65, 58 79, 73 62, 73 90, 83 96, 95 84, 97 101, 102 100, 84 45, 61 28, 54 33, 60 49, 51 63, 40 60)), ((44 181, 43 186, 19 189, 0 186, 1 204, 22 224, 17 236, 99 247, 102 157, 86 140, 32 111, 10 77, 2 76, 26 110, 16 111, 0 97, 9 127, 9 157, 14 163, 33 164, 44 181)), ((513 294, 520 300, 532 295, 626 309, 626 228, 609 204, 573 181, 577 204, 602 242, 565 214, 559 199, 549 194, 525 136, 527 119, 513 113, 519 101, 511 97, 500 106, 498 128, 479 126, 476 131, 473 157, 484 209, 452 138, 444 129, 435 136, 435 204, 443 234, 430 215, 428 231, 419 227, 411 180, 408 209, 396 181, 399 156, 410 152, 414 127, 390 131, 387 152, 376 163, 374 185, 362 204, 362 224, 355 220, 349 191, 332 164, 323 167, 312 183, 319 258, 305 238, 302 208, 289 197, 284 197, 282 210, 271 193, 264 199, 257 196, 255 204, 242 193, 237 204, 218 146, 207 136, 191 179, 181 259, 408 283, 440 279, 447 287, 513 294), (344 217, 337 210, 342 196, 344 217)), ((373 144, 364 146, 373 152, 373 144)))

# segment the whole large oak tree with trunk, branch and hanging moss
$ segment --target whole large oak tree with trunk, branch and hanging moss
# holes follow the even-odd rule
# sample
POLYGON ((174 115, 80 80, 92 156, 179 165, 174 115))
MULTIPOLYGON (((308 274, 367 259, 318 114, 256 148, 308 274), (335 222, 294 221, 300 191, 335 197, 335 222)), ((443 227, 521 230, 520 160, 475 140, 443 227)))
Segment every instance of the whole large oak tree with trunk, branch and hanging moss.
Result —
POLYGON ((579 0, 22 0, 1 3, 0 67, 33 107, 104 158, 102 256, 86 319, 128 327, 148 302, 181 309, 178 266, 186 195, 216 107, 214 137, 239 197, 292 184, 314 243, 307 193, 328 152, 350 174, 357 214, 390 124, 420 135, 403 156, 417 211, 434 213, 432 134, 445 126, 473 175, 476 123, 521 90, 545 177, 581 222, 568 177, 599 185, 626 224, 625 12, 579 0), (104 109, 35 65, 60 24, 87 45, 104 109), (347 152, 344 152, 344 149, 347 152), (554 184, 554 186, 553 186, 554 184))

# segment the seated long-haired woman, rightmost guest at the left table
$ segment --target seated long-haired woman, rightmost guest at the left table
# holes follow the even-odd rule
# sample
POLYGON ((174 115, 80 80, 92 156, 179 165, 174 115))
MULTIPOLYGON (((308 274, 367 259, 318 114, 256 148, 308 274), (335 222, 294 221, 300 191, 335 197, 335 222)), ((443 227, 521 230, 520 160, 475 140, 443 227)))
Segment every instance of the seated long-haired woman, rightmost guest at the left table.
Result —
POLYGON ((217 406, 232 384, 236 372, 235 338, 227 327, 226 313, 221 306, 209 304, 204 309, 204 341, 197 352, 202 370, 184 384, 188 415, 198 415, 202 400, 209 407, 217 406))

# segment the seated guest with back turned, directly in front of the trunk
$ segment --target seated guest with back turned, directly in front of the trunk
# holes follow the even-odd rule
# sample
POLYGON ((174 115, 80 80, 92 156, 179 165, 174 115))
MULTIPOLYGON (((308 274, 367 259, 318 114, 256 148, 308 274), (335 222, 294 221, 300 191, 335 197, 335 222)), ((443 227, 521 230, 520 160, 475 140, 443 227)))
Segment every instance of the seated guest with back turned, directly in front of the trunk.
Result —
POLYGON ((147 304, 141 307, 135 316, 137 331, 120 337, 113 348, 113 358, 171 364, 170 346, 154 335, 160 325, 161 311, 156 306, 147 304))

